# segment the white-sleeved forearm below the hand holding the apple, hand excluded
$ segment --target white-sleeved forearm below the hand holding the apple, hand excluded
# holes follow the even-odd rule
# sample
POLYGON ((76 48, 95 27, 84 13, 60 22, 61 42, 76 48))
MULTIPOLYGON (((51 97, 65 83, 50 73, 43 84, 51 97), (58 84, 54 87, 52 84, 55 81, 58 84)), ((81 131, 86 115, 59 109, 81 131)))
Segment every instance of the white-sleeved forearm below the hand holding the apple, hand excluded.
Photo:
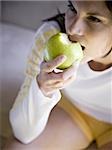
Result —
POLYGON ((10 122, 14 135, 27 144, 44 130, 49 113, 57 104, 61 95, 57 91, 52 98, 45 97, 40 91, 36 79, 31 82, 27 93, 18 96, 11 111, 10 122))

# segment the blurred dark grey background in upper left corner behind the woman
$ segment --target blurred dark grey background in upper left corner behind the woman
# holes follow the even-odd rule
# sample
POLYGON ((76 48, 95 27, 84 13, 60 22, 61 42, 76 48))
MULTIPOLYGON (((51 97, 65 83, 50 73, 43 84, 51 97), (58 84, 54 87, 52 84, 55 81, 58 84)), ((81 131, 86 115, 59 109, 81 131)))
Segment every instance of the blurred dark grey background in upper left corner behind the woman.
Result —
POLYGON ((67 1, 2 1, 1 21, 14 23, 29 29, 37 29, 41 21, 66 11, 67 1))

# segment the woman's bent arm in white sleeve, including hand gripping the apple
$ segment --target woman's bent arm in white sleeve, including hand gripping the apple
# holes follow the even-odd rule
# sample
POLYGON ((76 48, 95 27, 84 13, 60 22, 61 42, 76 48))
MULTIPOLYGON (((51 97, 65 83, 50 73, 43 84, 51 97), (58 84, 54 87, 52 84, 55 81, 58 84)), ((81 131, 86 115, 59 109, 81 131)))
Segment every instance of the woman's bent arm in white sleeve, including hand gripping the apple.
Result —
POLYGON ((42 34, 44 36, 36 40, 28 59, 25 81, 10 111, 14 135, 26 144, 44 130, 51 109, 61 98, 59 89, 72 82, 76 72, 76 67, 71 66, 63 72, 55 73, 54 69, 65 61, 65 56, 58 56, 52 61, 41 63, 43 57, 40 56, 44 42, 41 46, 39 43, 43 41, 42 39, 46 41, 43 37, 52 36, 53 33, 44 32, 42 34))

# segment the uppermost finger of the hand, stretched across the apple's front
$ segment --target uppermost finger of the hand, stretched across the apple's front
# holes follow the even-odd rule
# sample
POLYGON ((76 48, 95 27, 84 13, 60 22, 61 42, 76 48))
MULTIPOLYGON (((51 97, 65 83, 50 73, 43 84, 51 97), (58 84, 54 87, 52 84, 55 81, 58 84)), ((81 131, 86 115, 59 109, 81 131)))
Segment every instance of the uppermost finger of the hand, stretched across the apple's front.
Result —
POLYGON ((44 72, 52 72, 54 69, 60 66, 65 60, 66 60, 65 55, 57 56, 54 60, 42 63, 41 69, 44 72))

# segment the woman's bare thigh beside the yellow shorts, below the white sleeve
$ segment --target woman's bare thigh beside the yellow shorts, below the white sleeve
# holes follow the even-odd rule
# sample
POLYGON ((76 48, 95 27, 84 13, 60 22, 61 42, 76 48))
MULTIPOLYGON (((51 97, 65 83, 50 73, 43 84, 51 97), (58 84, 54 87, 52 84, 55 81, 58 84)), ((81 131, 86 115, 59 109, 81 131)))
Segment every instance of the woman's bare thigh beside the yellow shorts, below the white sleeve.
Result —
POLYGON ((80 150, 89 141, 66 112, 55 107, 44 132, 30 144, 24 145, 13 139, 4 150, 80 150))

